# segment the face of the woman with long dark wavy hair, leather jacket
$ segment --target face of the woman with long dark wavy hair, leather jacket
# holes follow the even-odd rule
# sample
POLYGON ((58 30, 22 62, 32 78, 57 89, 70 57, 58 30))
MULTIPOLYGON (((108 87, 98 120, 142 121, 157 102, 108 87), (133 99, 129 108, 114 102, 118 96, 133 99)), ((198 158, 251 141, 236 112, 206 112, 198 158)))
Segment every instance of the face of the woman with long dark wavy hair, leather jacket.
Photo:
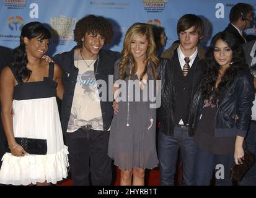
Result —
POLYGON ((213 56, 220 66, 229 67, 232 61, 232 50, 227 43, 221 39, 216 41, 213 56))

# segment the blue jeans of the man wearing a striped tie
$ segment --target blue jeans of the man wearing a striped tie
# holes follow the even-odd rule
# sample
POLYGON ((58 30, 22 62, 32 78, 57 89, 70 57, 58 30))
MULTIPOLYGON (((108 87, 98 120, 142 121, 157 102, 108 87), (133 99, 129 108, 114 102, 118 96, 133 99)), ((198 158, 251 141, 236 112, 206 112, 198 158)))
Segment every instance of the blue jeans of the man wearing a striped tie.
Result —
POLYGON ((174 185, 178 150, 181 151, 183 185, 194 185, 195 157, 197 145, 193 137, 188 136, 187 127, 175 126, 174 137, 162 131, 158 135, 158 157, 160 167, 160 185, 174 185))

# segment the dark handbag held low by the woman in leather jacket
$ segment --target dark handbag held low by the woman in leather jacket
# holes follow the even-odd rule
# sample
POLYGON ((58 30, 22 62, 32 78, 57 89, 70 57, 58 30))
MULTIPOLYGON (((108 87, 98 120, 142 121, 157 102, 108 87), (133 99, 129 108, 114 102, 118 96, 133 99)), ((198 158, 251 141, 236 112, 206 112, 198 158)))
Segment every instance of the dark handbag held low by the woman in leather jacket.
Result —
POLYGON ((254 160, 254 154, 244 150, 244 160, 242 160, 242 164, 236 165, 235 163, 232 166, 229 171, 230 178, 235 179, 236 181, 241 181, 247 171, 249 171, 250 167, 254 164, 254 160))

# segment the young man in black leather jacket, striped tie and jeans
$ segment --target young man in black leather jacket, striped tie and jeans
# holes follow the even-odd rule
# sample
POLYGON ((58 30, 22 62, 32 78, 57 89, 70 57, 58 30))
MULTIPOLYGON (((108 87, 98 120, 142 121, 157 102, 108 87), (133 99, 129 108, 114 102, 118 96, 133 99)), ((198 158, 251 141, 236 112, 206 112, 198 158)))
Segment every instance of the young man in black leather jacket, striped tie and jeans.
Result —
POLYGON ((180 44, 175 43, 162 53, 171 60, 161 68, 162 103, 158 137, 161 185, 174 185, 178 150, 181 151, 183 184, 194 184, 196 145, 193 142, 192 98, 205 72, 204 51, 198 47, 203 37, 203 20, 194 14, 183 15, 177 24, 180 44), (185 61, 187 60, 188 63, 185 61), (187 68, 188 64, 188 68, 187 68))

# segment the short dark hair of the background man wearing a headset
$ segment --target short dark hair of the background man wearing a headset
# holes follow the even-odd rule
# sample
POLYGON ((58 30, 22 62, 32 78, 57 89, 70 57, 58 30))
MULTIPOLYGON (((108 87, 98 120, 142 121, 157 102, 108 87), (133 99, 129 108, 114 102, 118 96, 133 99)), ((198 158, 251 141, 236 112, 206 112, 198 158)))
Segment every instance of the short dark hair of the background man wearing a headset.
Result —
POLYGON ((250 4, 239 2, 231 8, 231 11, 229 12, 229 21, 234 23, 237 22, 240 17, 246 18, 246 15, 249 12, 252 12, 252 10, 253 8, 250 4))

